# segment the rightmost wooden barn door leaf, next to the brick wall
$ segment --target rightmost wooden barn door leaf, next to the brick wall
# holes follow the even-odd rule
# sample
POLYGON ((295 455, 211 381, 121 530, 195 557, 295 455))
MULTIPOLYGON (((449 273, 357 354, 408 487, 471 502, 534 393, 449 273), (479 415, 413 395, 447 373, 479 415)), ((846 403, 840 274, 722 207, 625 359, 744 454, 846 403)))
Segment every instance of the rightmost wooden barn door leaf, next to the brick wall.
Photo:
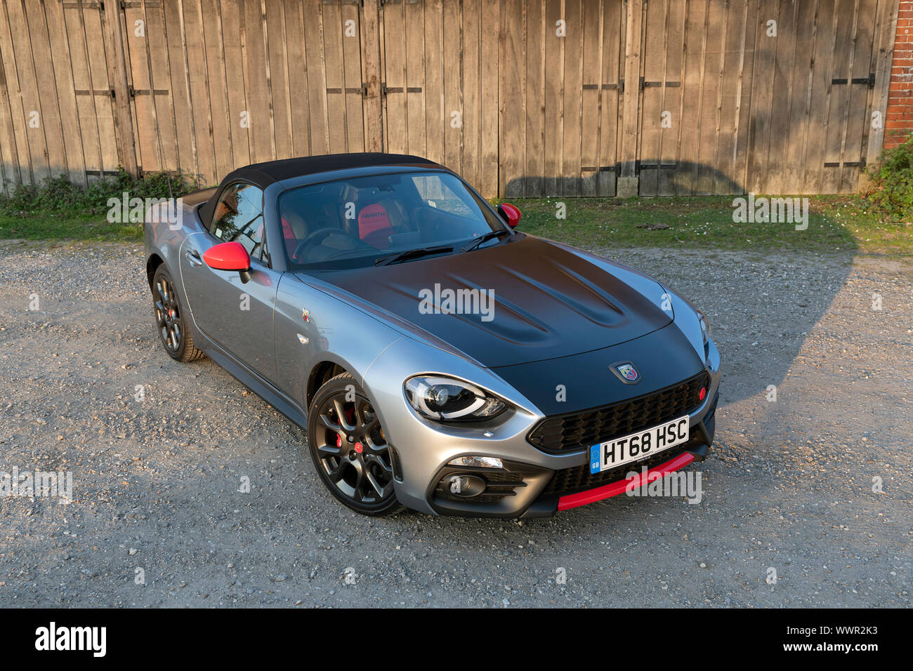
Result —
POLYGON ((873 110, 890 75, 894 5, 761 2, 746 190, 855 192, 869 147, 881 146, 873 110))

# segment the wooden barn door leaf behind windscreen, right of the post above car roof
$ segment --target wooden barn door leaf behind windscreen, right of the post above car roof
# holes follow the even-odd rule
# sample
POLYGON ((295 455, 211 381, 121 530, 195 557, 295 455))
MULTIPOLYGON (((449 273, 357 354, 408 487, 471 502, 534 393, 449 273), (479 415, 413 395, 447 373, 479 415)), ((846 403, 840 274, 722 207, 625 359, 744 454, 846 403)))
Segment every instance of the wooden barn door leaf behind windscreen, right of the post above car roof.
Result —
POLYGON ((384 0, 383 147, 498 193, 498 21, 488 0, 384 0))

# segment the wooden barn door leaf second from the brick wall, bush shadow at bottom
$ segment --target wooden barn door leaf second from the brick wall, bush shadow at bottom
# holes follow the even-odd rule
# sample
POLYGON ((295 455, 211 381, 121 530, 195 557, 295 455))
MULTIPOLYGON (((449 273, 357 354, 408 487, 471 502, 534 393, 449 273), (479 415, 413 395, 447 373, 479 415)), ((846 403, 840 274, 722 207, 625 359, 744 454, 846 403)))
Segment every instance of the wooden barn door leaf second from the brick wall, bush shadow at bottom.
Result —
POLYGON ((645 3, 642 195, 742 191, 755 8, 727 0, 645 3))

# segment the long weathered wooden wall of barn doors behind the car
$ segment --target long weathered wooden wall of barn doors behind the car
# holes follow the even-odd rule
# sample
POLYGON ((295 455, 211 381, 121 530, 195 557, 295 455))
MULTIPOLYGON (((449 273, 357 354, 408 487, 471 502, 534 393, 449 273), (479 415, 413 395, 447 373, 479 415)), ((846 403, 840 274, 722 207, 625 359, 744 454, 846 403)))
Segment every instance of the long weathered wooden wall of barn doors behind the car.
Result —
POLYGON ((853 192, 897 0, 0 0, 0 179, 410 152, 487 196, 853 192))

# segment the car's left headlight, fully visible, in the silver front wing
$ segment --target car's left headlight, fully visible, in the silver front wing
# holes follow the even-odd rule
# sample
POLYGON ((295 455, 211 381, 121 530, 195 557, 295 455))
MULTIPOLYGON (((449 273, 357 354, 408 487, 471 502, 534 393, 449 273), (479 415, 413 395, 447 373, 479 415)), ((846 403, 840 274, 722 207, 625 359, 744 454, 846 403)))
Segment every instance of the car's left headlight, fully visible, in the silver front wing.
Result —
POLYGON ((416 375, 404 388, 418 414, 436 422, 481 422, 507 407, 494 394, 449 377, 416 375))

